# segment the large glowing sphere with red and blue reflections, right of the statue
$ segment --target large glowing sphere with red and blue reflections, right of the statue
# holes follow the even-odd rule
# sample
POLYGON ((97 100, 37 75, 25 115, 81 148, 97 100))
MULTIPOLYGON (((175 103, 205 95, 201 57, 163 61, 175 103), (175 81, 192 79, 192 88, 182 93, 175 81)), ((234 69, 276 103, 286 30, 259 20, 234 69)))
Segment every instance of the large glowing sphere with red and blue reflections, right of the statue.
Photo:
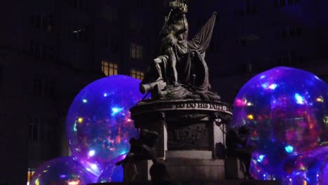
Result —
POLYGON ((247 144, 267 159, 257 165, 278 177, 289 173, 287 158, 296 158, 325 140, 327 108, 324 81, 308 71, 275 67, 242 87, 235 98, 231 128, 246 125, 250 129, 247 144))

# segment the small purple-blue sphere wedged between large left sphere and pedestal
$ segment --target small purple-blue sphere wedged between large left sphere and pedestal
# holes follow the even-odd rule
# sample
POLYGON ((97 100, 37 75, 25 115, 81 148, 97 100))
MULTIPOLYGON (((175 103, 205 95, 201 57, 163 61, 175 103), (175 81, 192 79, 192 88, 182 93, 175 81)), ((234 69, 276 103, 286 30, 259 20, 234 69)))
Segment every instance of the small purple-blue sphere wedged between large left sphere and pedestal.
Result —
POLYGON ((122 182, 123 181, 123 167, 121 165, 115 165, 115 163, 123 160, 126 156, 126 153, 118 156, 111 160, 111 163, 102 171, 98 182, 122 182))

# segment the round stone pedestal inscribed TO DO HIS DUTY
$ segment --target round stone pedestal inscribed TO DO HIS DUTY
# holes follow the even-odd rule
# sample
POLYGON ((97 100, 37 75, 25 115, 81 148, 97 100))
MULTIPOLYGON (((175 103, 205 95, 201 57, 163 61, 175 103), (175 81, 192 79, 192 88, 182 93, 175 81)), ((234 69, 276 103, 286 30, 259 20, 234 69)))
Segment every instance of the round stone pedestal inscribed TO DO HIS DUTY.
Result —
MULTIPOLYGON (((217 146, 224 145, 221 125, 231 120, 230 104, 157 100, 139 102, 130 112, 136 128, 158 132, 156 155, 164 161, 172 181, 224 179, 224 160, 219 159, 217 146)), ((133 181, 149 180, 150 165, 146 160, 135 163, 139 176, 133 181)), ((131 181, 127 175, 125 182, 131 181)))

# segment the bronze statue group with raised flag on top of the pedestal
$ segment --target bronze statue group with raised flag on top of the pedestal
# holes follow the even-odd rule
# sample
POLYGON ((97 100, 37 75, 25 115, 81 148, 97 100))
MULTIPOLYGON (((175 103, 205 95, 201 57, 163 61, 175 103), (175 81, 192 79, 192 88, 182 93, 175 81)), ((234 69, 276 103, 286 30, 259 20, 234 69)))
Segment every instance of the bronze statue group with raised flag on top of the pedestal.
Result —
POLYGON ((204 60, 210 44, 216 13, 188 40, 189 26, 186 19, 186 1, 171 1, 171 11, 160 31, 160 53, 153 60, 140 83, 142 93, 151 92, 152 98, 200 98, 220 100, 210 91, 208 69, 204 60), (157 88, 156 88, 157 86, 157 88))

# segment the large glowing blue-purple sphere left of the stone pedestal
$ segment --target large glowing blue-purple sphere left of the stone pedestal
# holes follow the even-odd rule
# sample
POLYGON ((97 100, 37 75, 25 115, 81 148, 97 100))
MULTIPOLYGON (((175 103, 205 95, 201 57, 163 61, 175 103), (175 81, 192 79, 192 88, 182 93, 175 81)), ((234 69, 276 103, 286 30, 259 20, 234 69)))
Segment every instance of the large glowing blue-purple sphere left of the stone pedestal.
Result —
POLYGON ((72 156, 93 174, 130 149, 137 137, 129 109, 142 100, 139 80, 115 75, 94 81, 75 97, 67 115, 72 156))

